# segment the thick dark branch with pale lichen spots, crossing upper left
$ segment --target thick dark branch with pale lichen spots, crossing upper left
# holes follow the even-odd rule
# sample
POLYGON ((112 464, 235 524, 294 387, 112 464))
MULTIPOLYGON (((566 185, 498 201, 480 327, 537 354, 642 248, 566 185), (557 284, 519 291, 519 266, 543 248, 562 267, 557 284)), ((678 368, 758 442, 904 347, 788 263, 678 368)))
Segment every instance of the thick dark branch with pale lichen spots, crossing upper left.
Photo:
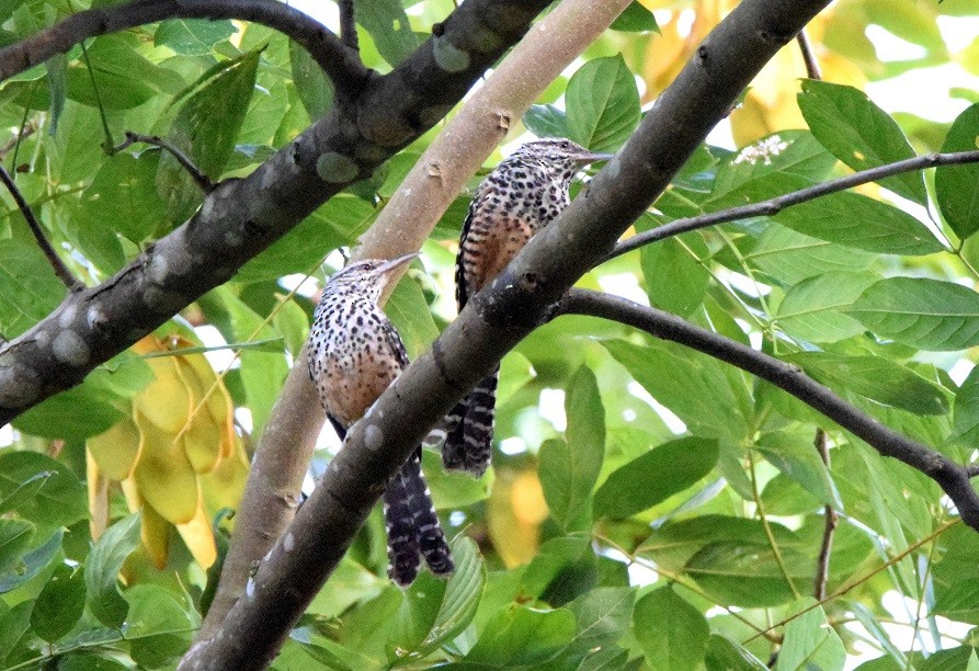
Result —
POLYGON ((452 109, 546 4, 466 2, 442 24, 441 36, 390 73, 373 78, 356 102, 340 101, 249 177, 219 184, 190 221, 114 277, 70 295, 3 345, 0 424, 80 383, 96 365, 228 281, 332 195, 368 177, 452 109), (445 53, 454 58, 446 61, 445 53))

